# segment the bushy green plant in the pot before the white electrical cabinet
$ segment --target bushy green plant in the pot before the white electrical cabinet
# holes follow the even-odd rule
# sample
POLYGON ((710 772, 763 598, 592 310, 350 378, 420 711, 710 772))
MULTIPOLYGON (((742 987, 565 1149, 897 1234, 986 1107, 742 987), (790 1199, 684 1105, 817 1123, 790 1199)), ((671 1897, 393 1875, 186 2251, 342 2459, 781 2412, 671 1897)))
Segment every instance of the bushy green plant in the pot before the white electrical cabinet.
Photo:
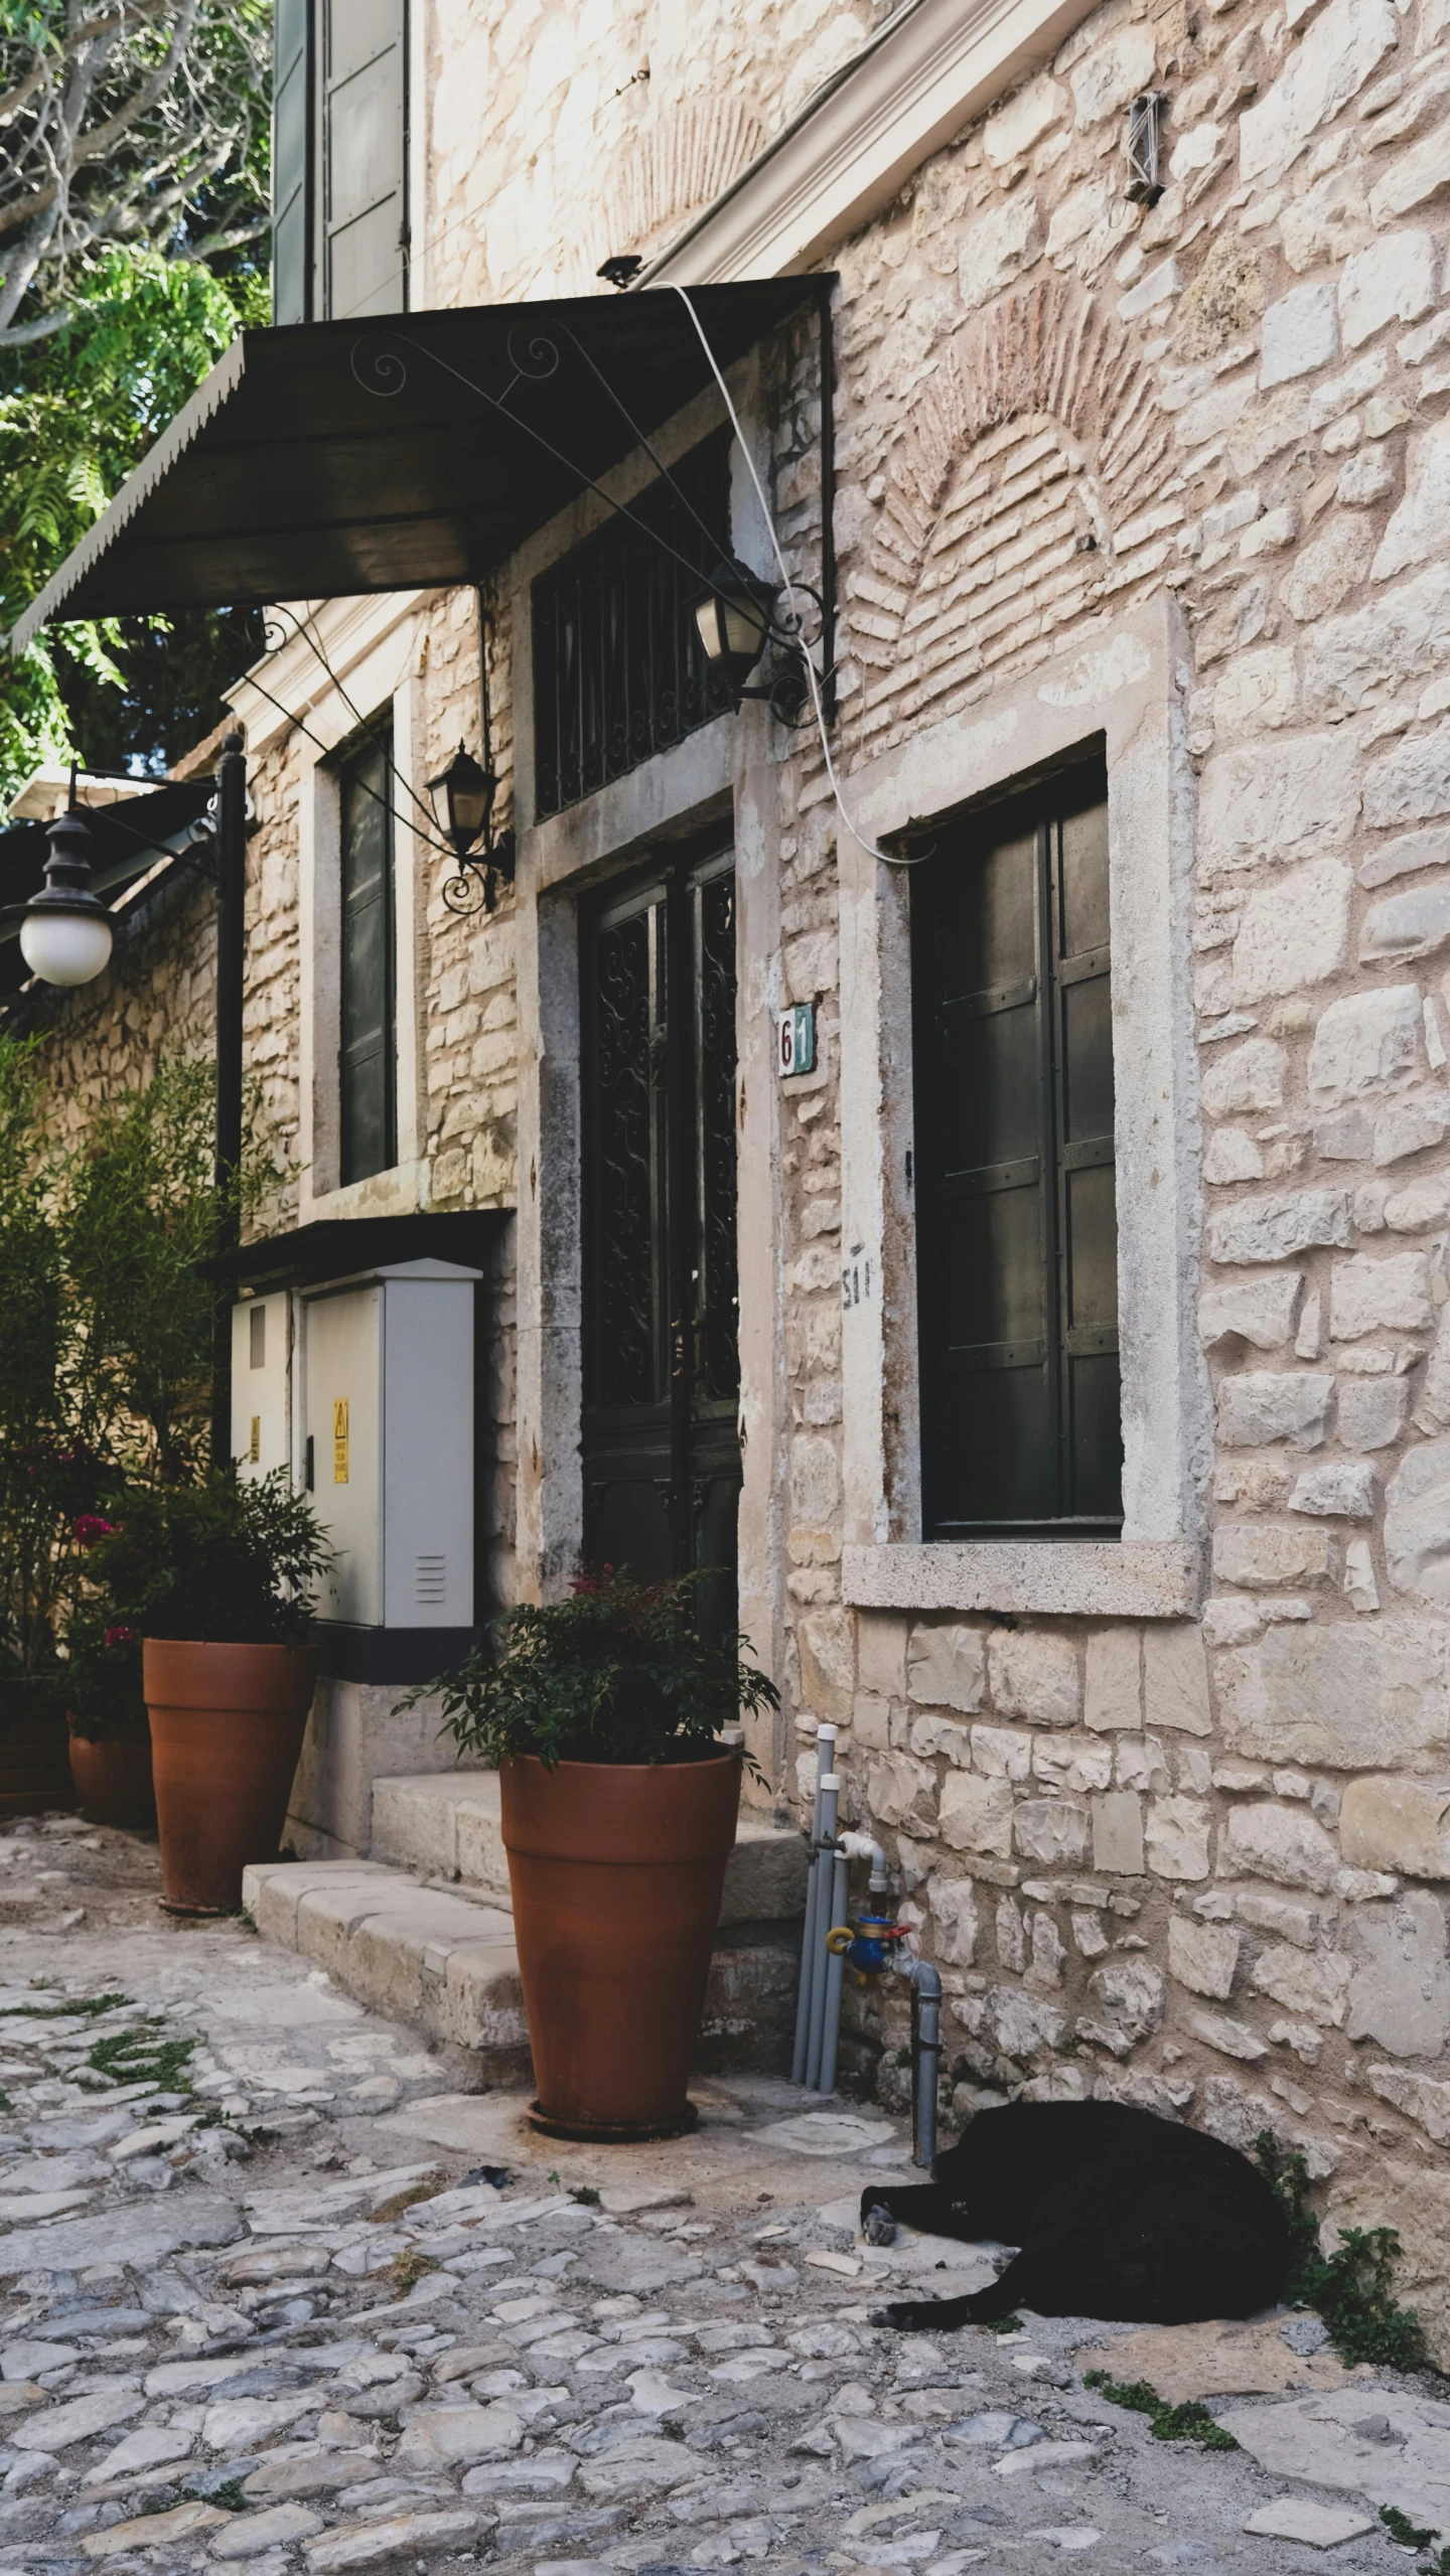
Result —
POLYGON ((95 1540, 88 1577, 111 1631, 214 1646, 301 1646, 312 1584, 332 1561, 306 1494, 286 1468, 245 1484, 134 1486, 118 1528, 95 1540))

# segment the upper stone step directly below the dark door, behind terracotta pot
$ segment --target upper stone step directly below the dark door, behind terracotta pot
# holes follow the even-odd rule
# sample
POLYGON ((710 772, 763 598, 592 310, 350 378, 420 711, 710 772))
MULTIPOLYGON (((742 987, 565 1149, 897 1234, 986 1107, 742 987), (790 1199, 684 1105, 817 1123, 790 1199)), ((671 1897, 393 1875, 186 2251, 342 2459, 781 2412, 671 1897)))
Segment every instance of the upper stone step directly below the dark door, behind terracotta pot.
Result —
MULTIPOLYGON (((510 1909, 500 1826, 500 1775, 412 1772, 373 1780, 371 1857, 417 1878, 482 1891, 510 1909)), ((786 1924, 806 1911, 804 1837, 773 1816, 742 1811, 729 1855, 721 1924, 786 1924)))

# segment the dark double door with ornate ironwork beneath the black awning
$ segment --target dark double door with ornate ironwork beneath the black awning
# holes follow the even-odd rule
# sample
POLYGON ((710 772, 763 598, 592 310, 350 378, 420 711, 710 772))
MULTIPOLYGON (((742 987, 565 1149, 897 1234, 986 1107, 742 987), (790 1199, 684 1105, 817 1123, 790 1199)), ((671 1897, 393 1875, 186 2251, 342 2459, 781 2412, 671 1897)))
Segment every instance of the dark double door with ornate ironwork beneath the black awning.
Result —
POLYGON ((693 853, 582 917, 585 1556, 711 1569, 734 1625, 734 858, 693 853))

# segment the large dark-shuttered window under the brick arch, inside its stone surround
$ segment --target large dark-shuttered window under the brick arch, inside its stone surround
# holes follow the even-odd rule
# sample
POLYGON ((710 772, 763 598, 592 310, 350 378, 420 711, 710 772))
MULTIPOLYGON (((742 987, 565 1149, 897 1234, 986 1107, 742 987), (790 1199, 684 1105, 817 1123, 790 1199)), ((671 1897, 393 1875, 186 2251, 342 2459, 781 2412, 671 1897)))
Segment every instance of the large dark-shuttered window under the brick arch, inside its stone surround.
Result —
POLYGON ((925 1535, 1113 1535, 1123 1432, 1100 762, 940 829, 912 873, 912 984, 925 1535))

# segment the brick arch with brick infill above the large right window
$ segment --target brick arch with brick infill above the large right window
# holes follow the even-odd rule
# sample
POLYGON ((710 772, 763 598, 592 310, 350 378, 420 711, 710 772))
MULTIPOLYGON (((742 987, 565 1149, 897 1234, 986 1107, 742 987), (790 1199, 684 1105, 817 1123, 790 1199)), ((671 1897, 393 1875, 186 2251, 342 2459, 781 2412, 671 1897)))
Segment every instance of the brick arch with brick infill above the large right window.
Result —
POLYGON ((1128 332, 1059 276, 956 332, 886 469, 865 562, 847 582, 863 670, 855 755, 981 696, 981 680, 1162 567, 1144 515, 1172 433, 1128 332))

